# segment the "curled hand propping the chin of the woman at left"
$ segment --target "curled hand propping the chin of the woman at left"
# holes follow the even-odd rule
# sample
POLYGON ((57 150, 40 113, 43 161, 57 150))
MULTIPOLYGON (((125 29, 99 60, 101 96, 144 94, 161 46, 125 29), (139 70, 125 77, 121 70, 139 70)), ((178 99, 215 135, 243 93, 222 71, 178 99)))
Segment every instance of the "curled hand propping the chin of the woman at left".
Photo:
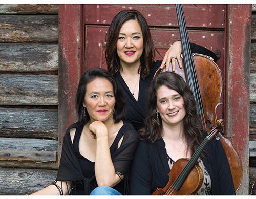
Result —
POLYGON ((108 136, 108 128, 101 121, 94 121, 89 125, 90 135, 93 139, 108 136))

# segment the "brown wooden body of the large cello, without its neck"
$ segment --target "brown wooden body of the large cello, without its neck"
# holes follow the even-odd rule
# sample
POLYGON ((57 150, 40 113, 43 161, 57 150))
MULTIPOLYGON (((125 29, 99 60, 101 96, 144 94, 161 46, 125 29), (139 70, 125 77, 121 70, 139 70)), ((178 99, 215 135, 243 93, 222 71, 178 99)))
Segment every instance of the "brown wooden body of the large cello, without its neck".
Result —
MULTIPOLYGON (((179 67, 178 61, 176 60, 175 73, 179 74, 186 81, 185 66, 184 61, 182 61, 182 68, 179 67)), ((201 94, 202 105, 204 109, 203 117, 205 121, 210 121, 211 124, 216 126, 217 115, 216 109, 219 105, 222 105, 220 101, 222 92, 222 77, 218 65, 211 60, 208 56, 201 54, 194 54, 193 61, 195 64, 195 71, 198 79, 199 90, 201 94)), ((172 69, 172 64, 170 64, 169 69, 172 69)), ((158 75, 165 71, 160 69, 155 73, 158 75)), ((209 125, 203 122, 205 130, 210 131, 209 125)), ((230 170, 232 173, 232 178, 234 182, 234 189, 237 190, 241 186, 242 182, 242 162, 238 155, 237 150, 234 148, 230 137, 218 132, 216 136, 220 137, 222 146, 226 152, 226 156, 229 162, 230 170)))

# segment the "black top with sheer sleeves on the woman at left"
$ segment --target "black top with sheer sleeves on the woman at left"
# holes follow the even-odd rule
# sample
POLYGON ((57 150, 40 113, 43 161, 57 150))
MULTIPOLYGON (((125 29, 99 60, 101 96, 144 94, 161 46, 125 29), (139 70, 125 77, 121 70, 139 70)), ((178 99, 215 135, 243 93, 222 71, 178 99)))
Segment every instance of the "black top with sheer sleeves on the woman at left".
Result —
MULTIPOLYGON (((124 125, 120 128, 112 146, 110 147, 111 158, 115 171, 124 175, 124 180, 118 183, 114 189, 121 194, 128 194, 127 179, 130 176, 131 163, 134 152, 138 145, 138 133, 130 123, 123 121, 124 125), (123 137, 121 146, 117 144, 123 137)), ((81 136, 83 125, 78 122, 72 124, 66 131, 63 140, 62 154, 56 181, 71 182, 71 195, 89 195, 97 182, 94 173, 94 162, 81 156, 78 150, 78 143, 81 136), (70 130, 76 128, 74 141, 72 143, 70 130)), ((64 183, 65 186, 65 183, 64 183)))

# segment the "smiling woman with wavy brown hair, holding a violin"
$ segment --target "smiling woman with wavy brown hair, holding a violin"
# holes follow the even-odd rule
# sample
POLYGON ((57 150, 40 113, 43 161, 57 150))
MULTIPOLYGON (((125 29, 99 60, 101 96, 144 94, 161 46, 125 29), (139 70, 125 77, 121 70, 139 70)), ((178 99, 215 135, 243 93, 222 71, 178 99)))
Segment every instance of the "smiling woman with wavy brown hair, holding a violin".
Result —
MULTIPOLYGON (((157 188, 164 188, 169 181, 168 173, 176 169, 175 162, 191 158, 206 137, 193 93, 181 76, 173 72, 157 75, 148 95, 148 114, 145 127, 139 131, 141 141, 131 170, 132 195, 151 195, 157 188)), ((189 186, 199 184, 196 194, 235 195, 228 160, 219 140, 209 141, 198 164, 203 182, 188 179, 189 176, 186 179, 192 182, 189 186)))

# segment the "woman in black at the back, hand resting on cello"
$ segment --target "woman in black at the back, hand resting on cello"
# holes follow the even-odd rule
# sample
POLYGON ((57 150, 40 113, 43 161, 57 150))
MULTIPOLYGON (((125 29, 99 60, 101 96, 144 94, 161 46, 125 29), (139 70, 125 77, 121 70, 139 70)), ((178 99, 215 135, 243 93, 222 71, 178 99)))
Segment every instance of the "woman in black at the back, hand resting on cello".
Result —
MULTIPOLYGON (((204 47, 190 43, 191 52, 204 54, 217 61, 217 56, 204 47)), ((137 10, 119 12, 106 36, 105 57, 108 70, 115 76, 127 101, 125 118, 136 130, 144 127, 147 113, 147 92, 159 67, 172 62, 173 71, 177 59, 181 67, 181 42, 176 41, 168 49, 162 61, 154 61, 155 48, 147 21, 137 10)))

